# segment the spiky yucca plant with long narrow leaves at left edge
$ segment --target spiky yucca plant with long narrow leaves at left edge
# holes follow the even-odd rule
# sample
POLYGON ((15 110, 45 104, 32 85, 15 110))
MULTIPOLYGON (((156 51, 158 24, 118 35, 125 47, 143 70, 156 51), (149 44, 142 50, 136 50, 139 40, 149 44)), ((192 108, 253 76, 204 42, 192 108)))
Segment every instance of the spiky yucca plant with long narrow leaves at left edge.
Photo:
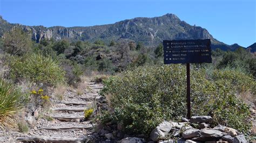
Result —
POLYGON ((14 116, 22 108, 21 98, 14 84, 0 78, 0 128, 15 127, 14 116))

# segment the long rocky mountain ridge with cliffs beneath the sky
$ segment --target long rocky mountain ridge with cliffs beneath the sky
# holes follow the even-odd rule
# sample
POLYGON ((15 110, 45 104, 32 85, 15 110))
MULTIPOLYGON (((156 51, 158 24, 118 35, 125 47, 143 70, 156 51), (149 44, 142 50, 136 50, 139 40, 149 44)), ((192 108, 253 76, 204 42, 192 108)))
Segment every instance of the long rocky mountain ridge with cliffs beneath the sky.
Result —
POLYGON ((192 26, 180 20, 176 15, 166 14, 161 17, 138 17, 123 20, 114 24, 87 26, 87 27, 63 27, 63 26, 25 26, 10 24, 0 17, 0 35, 11 30, 14 26, 22 26, 25 31, 31 32, 33 40, 39 42, 47 38, 69 39, 71 41, 103 41, 131 39, 142 41, 145 45, 158 45, 163 40, 173 39, 211 39, 212 49, 221 48, 225 51, 234 51, 236 45, 226 45, 214 39, 212 35, 200 26, 192 26))

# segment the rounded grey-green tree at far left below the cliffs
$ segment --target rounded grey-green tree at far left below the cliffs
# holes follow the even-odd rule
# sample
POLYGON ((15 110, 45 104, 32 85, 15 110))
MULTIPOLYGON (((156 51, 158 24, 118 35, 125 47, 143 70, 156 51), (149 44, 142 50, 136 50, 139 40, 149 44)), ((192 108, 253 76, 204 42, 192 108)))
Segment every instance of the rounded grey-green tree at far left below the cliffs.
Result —
POLYGON ((11 31, 4 33, 3 37, 4 51, 11 56, 23 55, 31 50, 31 37, 21 28, 15 27, 11 31))

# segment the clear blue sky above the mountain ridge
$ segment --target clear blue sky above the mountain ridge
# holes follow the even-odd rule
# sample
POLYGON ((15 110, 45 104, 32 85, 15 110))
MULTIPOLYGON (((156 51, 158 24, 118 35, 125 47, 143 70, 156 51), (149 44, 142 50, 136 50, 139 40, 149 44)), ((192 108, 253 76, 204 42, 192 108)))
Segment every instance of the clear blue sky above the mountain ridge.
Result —
POLYGON ((256 42, 255 7, 256 0, 0 0, 0 15, 10 23, 71 27, 173 13, 219 41, 247 47, 256 42))

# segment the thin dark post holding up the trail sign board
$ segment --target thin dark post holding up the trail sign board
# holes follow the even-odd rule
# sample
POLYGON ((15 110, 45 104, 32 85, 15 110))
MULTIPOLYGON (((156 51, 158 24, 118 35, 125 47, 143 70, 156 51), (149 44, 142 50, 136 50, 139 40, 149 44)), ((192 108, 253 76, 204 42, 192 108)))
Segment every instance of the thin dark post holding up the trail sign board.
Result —
POLYGON ((187 63, 187 119, 191 118, 190 105, 190 63, 187 63))

